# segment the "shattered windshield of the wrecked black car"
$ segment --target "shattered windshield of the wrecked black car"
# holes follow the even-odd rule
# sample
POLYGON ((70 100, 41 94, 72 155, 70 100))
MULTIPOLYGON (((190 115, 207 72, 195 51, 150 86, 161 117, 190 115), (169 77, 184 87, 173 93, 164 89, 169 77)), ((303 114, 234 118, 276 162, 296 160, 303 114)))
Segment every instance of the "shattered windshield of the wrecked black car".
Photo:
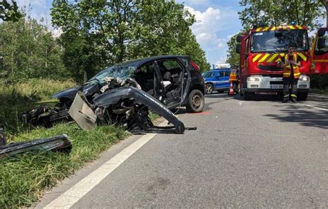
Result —
POLYGON ((134 77, 134 71, 136 70, 135 66, 109 66, 107 69, 100 71, 97 75, 93 76, 89 80, 98 81, 100 83, 105 82, 105 78, 120 78, 121 80, 127 80, 127 78, 134 77))

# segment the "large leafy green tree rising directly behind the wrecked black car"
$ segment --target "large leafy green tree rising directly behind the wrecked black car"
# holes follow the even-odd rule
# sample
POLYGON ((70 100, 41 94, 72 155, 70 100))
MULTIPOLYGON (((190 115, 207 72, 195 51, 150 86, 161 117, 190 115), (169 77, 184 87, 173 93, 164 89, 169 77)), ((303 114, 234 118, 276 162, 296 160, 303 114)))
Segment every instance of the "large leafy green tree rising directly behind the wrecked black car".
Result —
POLYGON ((194 18, 174 1, 55 0, 51 16, 63 30, 64 63, 75 78, 126 60, 187 52, 206 68, 205 53, 189 28, 194 18))

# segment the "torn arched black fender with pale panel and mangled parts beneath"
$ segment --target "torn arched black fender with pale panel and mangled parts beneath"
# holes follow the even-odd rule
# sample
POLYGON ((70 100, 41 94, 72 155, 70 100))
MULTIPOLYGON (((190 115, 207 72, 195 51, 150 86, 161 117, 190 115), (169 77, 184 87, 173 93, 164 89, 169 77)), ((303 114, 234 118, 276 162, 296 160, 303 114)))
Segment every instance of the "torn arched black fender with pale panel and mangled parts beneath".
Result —
POLYGON ((95 122, 125 124, 128 131, 156 131, 158 129, 175 129, 176 134, 183 134, 185 126, 161 102, 145 91, 134 87, 110 89, 93 100, 93 109, 82 92, 77 93, 69 114, 82 127, 92 129, 95 122), (156 127, 148 117, 148 108, 163 116, 174 127, 156 127))

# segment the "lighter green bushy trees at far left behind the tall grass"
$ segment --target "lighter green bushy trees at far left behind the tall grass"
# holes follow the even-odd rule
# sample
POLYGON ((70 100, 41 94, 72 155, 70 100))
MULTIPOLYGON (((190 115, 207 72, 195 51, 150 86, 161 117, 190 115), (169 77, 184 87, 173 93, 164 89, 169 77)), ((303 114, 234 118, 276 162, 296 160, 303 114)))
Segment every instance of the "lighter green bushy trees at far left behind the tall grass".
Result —
POLYGON ((1 75, 12 82, 29 78, 62 78, 61 48, 36 19, 0 24, 1 75))

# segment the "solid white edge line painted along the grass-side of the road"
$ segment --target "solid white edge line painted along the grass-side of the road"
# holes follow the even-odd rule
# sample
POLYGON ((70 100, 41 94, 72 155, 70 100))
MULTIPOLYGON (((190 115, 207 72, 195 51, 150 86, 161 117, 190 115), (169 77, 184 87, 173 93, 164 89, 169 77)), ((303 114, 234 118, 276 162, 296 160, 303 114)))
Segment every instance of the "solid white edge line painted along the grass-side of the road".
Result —
MULTIPOLYGON (((160 126, 165 125, 167 125, 167 121, 161 122, 160 124, 160 126)), ((109 161, 98 167, 98 169, 73 185, 72 188, 60 195, 60 197, 57 197, 57 199, 53 200, 45 208, 70 208, 154 136, 156 134, 141 136, 133 144, 123 149, 116 156, 113 156, 109 161)))

